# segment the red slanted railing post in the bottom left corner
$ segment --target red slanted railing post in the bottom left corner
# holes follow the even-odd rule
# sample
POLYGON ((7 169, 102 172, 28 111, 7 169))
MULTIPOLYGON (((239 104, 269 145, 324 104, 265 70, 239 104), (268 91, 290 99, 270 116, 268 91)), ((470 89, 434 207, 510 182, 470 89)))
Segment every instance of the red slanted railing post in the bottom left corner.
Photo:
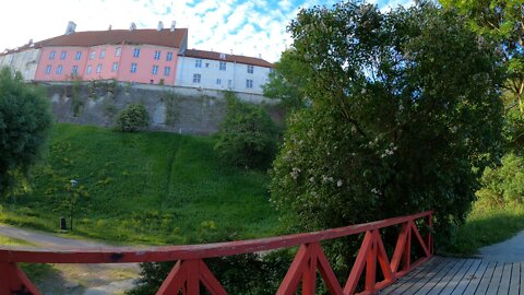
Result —
POLYGON ((40 294, 16 263, 0 262, 0 295, 27 294, 27 292, 33 295, 40 294))

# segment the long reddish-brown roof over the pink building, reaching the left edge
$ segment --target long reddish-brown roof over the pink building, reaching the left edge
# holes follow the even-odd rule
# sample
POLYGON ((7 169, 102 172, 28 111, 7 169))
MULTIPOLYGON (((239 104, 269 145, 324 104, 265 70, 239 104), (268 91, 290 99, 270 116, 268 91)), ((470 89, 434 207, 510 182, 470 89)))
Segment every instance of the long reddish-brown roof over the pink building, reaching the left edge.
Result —
POLYGON ((165 47, 180 48, 188 35, 188 28, 170 28, 160 31, 154 28, 146 30, 111 30, 111 31, 87 31, 76 32, 70 35, 61 35, 34 43, 32 46, 24 45, 20 48, 8 50, 7 54, 23 51, 32 48, 41 48, 46 46, 81 46, 91 47, 97 45, 117 45, 117 44, 148 44, 165 47))

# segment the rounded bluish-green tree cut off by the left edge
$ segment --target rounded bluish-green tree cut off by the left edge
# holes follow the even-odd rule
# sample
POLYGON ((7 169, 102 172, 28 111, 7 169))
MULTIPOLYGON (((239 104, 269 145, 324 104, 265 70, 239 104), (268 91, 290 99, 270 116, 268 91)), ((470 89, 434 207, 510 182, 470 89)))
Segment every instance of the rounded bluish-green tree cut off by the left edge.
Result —
POLYGON ((40 88, 22 83, 20 73, 0 71, 0 196, 25 178, 40 157, 51 127, 40 88))

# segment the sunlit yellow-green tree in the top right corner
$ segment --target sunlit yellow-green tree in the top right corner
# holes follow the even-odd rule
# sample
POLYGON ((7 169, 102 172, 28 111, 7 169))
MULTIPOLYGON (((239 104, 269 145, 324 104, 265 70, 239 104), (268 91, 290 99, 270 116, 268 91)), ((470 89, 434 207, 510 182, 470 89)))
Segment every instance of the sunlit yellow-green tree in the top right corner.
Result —
POLYGON ((507 71, 504 88, 510 148, 524 144, 524 4, 522 0, 441 0, 469 20, 486 42, 498 45, 507 71))

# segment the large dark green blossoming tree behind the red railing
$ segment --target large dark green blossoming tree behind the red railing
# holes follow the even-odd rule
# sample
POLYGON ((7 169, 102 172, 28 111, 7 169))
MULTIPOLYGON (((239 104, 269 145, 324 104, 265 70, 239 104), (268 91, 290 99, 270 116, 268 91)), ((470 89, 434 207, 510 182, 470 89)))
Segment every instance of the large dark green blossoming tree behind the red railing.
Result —
POLYGON ((449 237, 500 156, 495 49, 425 2, 389 13, 360 1, 317 7, 289 31, 312 101, 289 118, 272 170, 289 229, 432 209, 438 237, 449 237))

